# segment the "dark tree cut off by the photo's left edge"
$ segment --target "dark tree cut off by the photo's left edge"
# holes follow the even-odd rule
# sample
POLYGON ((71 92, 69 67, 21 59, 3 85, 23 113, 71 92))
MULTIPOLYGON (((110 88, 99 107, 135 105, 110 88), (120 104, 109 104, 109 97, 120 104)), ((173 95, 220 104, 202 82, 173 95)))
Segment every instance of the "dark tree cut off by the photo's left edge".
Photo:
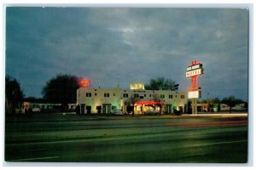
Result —
POLYGON ((24 98, 20 83, 14 77, 5 77, 5 112, 15 113, 24 98))

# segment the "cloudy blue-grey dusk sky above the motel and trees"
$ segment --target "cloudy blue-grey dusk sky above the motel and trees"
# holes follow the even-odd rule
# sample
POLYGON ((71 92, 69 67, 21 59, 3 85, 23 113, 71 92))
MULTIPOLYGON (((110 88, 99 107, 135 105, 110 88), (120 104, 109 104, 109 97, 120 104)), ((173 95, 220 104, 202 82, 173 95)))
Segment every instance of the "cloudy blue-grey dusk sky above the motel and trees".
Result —
POLYGON ((6 8, 6 74, 26 97, 42 97, 58 73, 94 88, 129 88, 166 77, 190 86, 191 60, 203 64, 202 98, 247 99, 245 8, 6 8))

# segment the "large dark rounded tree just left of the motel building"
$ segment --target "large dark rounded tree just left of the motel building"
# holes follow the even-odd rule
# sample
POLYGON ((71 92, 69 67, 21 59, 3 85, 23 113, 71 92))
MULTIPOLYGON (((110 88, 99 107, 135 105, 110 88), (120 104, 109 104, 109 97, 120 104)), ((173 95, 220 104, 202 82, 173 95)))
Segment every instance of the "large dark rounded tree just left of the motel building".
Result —
POLYGON ((58 74, 46 82, 42 90, 44 99, 50 103, 61 103, 62 109, 67 109, 68 103, 75 103, 77 89, 79 88, 78 78, 71 75, 58 74))

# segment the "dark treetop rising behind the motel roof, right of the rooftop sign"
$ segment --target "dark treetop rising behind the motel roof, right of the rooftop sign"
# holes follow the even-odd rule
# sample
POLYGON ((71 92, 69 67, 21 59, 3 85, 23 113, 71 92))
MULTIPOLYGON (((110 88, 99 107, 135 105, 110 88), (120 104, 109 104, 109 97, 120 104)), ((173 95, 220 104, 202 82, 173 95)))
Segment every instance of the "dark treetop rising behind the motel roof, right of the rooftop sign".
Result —
POLYGON ((165 79, 164 77, 158 77, 151 79, 149 84, 145 84, 147 90, 177 90, 178 84, 171 79, 165 79))

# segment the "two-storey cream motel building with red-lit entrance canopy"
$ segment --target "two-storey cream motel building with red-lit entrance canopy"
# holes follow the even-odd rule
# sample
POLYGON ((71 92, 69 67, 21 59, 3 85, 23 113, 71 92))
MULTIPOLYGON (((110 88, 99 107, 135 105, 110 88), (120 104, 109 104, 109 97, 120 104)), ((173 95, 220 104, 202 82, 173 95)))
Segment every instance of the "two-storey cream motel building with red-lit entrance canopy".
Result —
POLYGON ((130 113, 132 108, 137 115, 147 111, 172 114, 175 111, 188 111, 186 91, 145 90, 141 82, 131 83, 130 89, 121 88, 79 88, 77 105, 80 114, 109 114, 115 109, 130 113), (133 99, 134 107, 131 99, 133 99))

